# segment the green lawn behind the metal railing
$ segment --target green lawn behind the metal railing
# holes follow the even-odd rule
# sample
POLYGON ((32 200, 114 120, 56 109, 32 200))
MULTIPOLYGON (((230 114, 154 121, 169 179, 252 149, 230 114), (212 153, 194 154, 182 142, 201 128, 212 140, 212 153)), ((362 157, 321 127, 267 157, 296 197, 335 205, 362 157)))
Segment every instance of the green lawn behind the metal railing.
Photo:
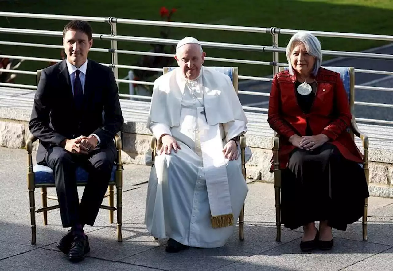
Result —
MULTIPOLYGON (((286 29, 341 31, 352 33, 371 33, 392 35, 393 0, 80 0, 67 2, 57 0, 17 0, 0 2, 1 11, 48 13, 59 15, 81 15, 118 18, 160 20, 160 7, 176 8, 172 20, 175 22, 194 22, 224 24, 235 26, 271 27, 286 29)), ((62 30, 66 22, 61 20, 37 20, 0 17, 0 27, 62 30)), ((104 23, 92 23, 95 33, 109 33, 110 27, 104 23)), ((160 27, 118 25, 119 35, 141 37, 160 37, 160 27)), ((212 31, 199 29, 171 28, 170 37, 180 39, 194 36, 202 41, 230 42, 239 44, 271 45, 270 34, 240 33, 231 31, 212 31)), ((281 35, 279 46, 286 46, 290 36, 281 35)), ((0 40, 61 44, 60 38, 28 35, 0 35, 0 40)), ((383 41, 350 40, 344 38, 320 38, 323 49, 362 51, 386 44, 383 41)), ((119 49, 148 51, 148 44, 119 42, 119 49)), ((109 48, 110 42, 95 40, 94 47, 109 48)), ((34 57, 59 58, 58 49, 0 46, 5 54, 34 57)), ((208 56, 229 57, 271 61, 271 53, 219 50, 206 48, 208 56)), ((91 58, 100 62, 111 61, 108 53, 91 52, 91 58)), ((280 55, 285 62, 285 56, 280 55)), ((133 65, 140 56, 119 55, 120 64, 133 65)), ((228 63, 208 62, 207 65, 228 65, 228 63)), ((25 61, 22 70, 37 70, 47 66, 42 62, 25 61)), ((264 76, 272 73, 271 67, 238 64, 241 75, 264 76)), ((119 70, 119 78, 127 75, 127 70, 119 70)), ((31 75, 18 75, 18 83, 34 84, 31 75)), ((127 86, 121 84, 121 91, 127 86)))

